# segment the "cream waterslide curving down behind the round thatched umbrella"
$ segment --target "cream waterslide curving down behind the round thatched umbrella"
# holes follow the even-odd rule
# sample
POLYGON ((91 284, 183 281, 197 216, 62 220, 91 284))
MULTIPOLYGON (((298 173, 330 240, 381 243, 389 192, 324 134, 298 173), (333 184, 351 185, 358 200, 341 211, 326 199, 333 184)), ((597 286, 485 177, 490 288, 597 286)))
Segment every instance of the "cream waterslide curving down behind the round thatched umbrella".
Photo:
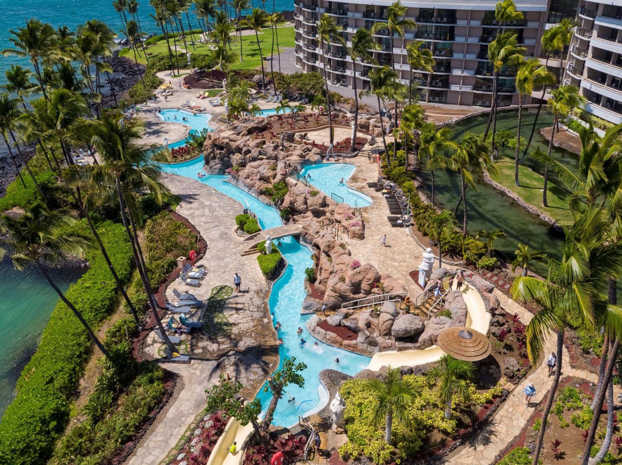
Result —
MULTIPOLYGON (((458 280, 453 280, 452 290, 456 290, 458 280)), ((462 288, 462 297, 466 303, 466 323, 467 328, 475 329, 482 334, 488 333, 490 328, 491 315, 486 311, 484 301, 477 290, 465 283, 462 288)), ((397 368, 401 366, 412 367, 430 362, 439 361, 443 351, 439 346, 432 346, 426 349, 412 351, 386 351, 378 352, 371 357, 368 369, 378 371, 383 366, 397 368)))

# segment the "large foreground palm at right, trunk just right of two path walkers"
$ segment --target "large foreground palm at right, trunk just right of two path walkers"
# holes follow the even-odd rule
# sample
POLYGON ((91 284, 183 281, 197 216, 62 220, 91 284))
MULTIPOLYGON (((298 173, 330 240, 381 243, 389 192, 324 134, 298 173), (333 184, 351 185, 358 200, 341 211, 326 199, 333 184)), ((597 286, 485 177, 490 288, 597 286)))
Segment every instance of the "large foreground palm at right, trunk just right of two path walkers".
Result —
MULTIPOLYGON (((557 360, 562 360, 565 327, 570 318, 580 318, 587 328, 594 328, 598 315, 605 315, 608 327, 620 327, 620 308, 601 298, 598 286, 608 276, 618 275, 622 266, 622 247, 603 242, 608 220, 600 209, 589 208, 572 228, 565 229, 562 259, 551 259, 546 280, 519 277, 511 293, 518 302, 536 302, 541 310, 527 325, 527 353, 532 364, 542 352, 544 341, 554 331, 557 334, 557 360)), ((542 424, 552 407, 559 385, 562 364, 558 363, 549 397, 542 412, 542 424)), ((608 380, 606 381, 608 382, 608 380)), ((537 465, 544 440, 542 428, 534 450, 533 465, 537 465)))

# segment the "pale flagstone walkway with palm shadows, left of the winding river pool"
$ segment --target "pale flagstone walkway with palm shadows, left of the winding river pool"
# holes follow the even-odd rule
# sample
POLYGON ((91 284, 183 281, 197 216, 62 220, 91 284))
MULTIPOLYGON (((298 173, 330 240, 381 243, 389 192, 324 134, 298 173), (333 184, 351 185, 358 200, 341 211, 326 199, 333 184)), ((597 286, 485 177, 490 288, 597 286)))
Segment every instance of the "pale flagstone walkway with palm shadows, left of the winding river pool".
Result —
MULTIPOLYGON (((207 308, 202 315, 204 328, 189 339, 190 364, 163 364, 178 375, 177 389, 125 462, 128 465, 170 461, 205 408, 205 389, 218 382, 221 373, 240 380, 243 394, 254 397, 279 363, 266 280, 256 257, 241 257, 243 242, 234 233, 234 216, 241 211, 241 205, 195 180, 169 174, 165 183, 182 197, 177 213, 193 223, 208 244, 205 257, 198 262, 208 270, 202 285, 187 287, 174 282, 167 289, 167 297, 172 298, 174 288, 192 292, 207 301, 207 308), (242 277, 241 293, 234 292, 232 287, 235 272, 242 277)), ((152 334, 146 346, 153 354, 161 344, 156 343, 152 334)))

